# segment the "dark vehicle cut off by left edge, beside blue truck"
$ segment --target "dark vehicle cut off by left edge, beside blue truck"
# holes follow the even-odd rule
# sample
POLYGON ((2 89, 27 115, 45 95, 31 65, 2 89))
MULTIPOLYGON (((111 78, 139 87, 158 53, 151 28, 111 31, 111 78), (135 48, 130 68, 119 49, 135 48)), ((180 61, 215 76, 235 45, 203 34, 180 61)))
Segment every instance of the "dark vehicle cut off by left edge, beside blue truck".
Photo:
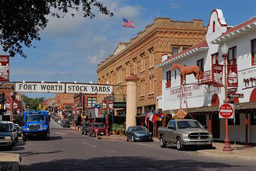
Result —
POLYGON ((14 139, 10 124, 0 122, 0 146, 5 146, 8 150, 11 150, 14 145, 14 139))

